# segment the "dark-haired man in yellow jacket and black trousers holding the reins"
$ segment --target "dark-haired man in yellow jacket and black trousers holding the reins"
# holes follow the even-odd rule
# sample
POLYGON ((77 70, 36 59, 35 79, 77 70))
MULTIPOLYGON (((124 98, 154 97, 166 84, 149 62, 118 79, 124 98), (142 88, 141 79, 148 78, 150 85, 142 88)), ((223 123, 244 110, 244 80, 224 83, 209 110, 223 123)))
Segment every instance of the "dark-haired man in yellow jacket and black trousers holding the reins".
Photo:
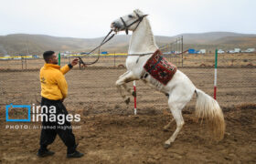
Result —
MULTIPOLYGON (((74 59, 69 65, 60 68, 58 66, 58 56, 54 51, 46 51, 43 56, 46 63, 40 70, 41 107, 56 108, 55 117, 59 118, 59 115, 65 116, 65 121, 63 124, 59 124, 58 120, 43 120, 40 149, 38 149, 37 156, 47 157, 54 154, 47 147, 58 134, 68 148, 67 158, 80 158, 83 154, 76 150, 75 136, 72 133, 72 128, 69 128, 71 127, 70 122, 66 120, 66 116, 69 113, 62 103, 68 95, 68 84, 64 75, 78 64, 78 59, 74 59)), ((49 113, 47 112, 46 114, 49 117, 49 113)))

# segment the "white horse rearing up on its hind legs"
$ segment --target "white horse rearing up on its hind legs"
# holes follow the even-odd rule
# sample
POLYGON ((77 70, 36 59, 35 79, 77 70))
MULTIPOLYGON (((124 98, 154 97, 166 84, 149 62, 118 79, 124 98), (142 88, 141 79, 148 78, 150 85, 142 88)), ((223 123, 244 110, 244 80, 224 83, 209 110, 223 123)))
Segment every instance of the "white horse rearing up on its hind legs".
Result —
MULTIPOLYGON (((122 87, 130 95, 133 95, 131 89, 126 86, 126 83, 141 79, 144 74, 144 64, 158 49, 158 46, 155 44, 155 37, 153 36, 151 26, 145 16, 143 12, 137 9, 129 15, 124 15, 116 19, 111 25, 112 30, 116 33, 125 30, 126 34, 128 34, 128 30, 133 31, 128 56, 126 58, 127 71, 116 81, 116 87, 126 104, 130 102, 130 97, 125 95, 122 87)), ((205 118, 207 120, 216 139, 220 140, 223 138, 225 121, 218 102, 195 87, 184 73, 176 70, 176 74, 166 85, 156 84, 155 79, 150 75, 142 80, 168 96, 168 106, 174 118, 171 119, 170 123, 168 123, 164 129, 169 128, 172 121, 175 119, 176 131, 165 141, 165 148, 168 148, 171 143, 175 141, 177 134, 183 127, 184 119, 182 117, 182 109, 190 101, 194 93, 197 94, 197 118, 205 118)))

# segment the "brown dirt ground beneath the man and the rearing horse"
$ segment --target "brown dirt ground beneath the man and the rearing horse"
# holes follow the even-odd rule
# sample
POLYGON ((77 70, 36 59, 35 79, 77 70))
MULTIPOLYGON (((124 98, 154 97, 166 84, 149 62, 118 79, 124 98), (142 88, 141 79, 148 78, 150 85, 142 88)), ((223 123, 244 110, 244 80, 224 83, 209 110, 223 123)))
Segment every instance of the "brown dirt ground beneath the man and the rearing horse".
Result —
MULTIPOLYGON (((180 70, 196 87, 213 95, 212 68, 180 70)), ((40 86, 38 72, 0 72, 0 163, 256 163, 256 68, 218 70, 217 100, 227 124, 223 140, 211 140, 205 124, 194 118, 194 96, 183 110, 185 126, 169 149, 163 144, 176 124, 163 131, 172 118, 167 98, 138 82, 138 115, 133 116, 133 101, 127 107, 114 86, 124 72, 88 68, 72 70, 66 76, 69 97, 64 104, 69 113, 81 116, 79 123, 73 123, 80 127, 73 131, 78 149, 85 153, 82 159, 66 159, 59 138, 49 146, 56 154, 39 159, 39 128, 6 128, 20 124, 5 122, 5 105, 37 104, 40 86)))

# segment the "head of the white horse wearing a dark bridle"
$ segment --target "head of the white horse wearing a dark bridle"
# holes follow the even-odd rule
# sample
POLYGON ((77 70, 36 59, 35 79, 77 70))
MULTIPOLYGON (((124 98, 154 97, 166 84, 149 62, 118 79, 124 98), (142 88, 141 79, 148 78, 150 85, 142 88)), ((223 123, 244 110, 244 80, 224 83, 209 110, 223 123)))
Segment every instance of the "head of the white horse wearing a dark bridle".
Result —
POLYGON ((133 13, 129 15, 123 15, 122 17, 113 21, 111 28, 115 32, 125 30, 126 34, 128 35, 128 30, 135 31, 143 21, 144 16, 146 15, 144 15, 143 12, 141 12, 139 9, 136 9, 133 11, 133 13))

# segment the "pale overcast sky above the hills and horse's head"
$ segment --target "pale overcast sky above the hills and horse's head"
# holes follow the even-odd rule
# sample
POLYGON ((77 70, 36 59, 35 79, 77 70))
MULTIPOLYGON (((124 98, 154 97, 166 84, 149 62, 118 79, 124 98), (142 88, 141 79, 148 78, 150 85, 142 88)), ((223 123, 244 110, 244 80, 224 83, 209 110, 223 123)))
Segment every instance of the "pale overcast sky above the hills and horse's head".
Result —
POLYGON ((255 0, 0 0, 0 36, 105 36, 113 20, 136 8, 149 14, 155 36, 256 34, 255 0))

